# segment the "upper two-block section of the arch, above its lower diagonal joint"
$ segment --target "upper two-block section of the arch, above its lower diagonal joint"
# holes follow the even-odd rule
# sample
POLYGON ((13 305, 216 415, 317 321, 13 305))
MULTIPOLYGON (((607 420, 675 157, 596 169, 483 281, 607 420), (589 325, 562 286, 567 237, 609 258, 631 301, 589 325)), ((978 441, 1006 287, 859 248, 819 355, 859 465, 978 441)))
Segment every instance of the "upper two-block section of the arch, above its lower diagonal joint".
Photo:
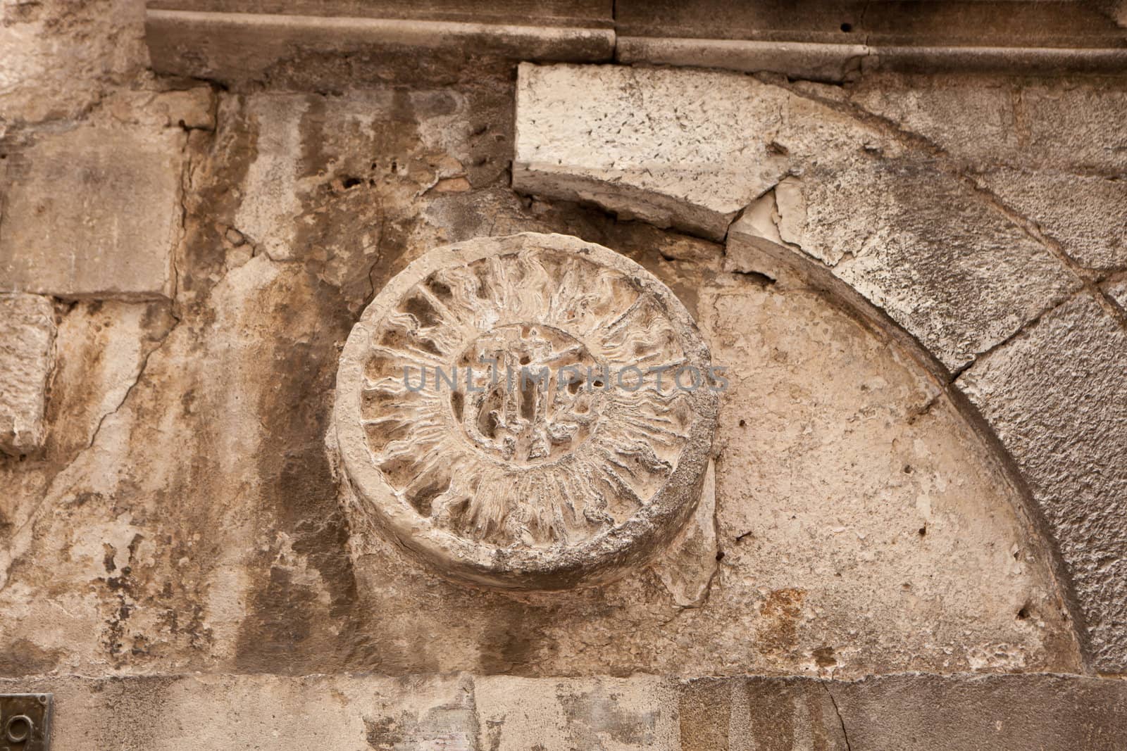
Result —
POLYGON ((746 75, 523 65, 516 133, 517 190, 709 238, 773 189, 772 240, 832 267, 952 372, 1081 285, 896 133, 746 75))

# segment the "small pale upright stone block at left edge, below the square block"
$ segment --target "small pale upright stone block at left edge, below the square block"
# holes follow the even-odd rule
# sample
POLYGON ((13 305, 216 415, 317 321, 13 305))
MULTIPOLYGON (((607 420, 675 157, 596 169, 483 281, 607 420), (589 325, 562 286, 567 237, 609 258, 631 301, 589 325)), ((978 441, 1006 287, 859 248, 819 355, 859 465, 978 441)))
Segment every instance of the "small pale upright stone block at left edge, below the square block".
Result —
POLYGON ((43 444, 54 340, 51 299, 0 294, 0 450, 7 454, 43 444))

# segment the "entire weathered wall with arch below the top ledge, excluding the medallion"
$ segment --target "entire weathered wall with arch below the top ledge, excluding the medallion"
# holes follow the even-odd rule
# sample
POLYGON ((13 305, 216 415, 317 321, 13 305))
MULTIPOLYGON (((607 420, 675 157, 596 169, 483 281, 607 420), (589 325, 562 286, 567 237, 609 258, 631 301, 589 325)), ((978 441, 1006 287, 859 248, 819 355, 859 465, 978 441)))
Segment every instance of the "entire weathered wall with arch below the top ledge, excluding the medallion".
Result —
POLYGON ((136 6, 5 8, 0 676, 59 748, 1127 735, 1121 80, 220 86, 145 71, 136 6), (345 512, 361 311, 525 231, 645 266, 730 378, 685 537, 597 588, 454 583, 345 512))

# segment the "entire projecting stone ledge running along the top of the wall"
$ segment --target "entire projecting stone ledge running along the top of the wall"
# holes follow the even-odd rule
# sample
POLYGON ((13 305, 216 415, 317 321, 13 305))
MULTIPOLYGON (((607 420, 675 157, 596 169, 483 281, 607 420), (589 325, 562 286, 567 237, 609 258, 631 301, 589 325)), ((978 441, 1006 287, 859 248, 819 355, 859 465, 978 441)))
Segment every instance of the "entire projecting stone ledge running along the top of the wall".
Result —
MULTIPOLYGON (((840 82, 867 71, 1012 74, 1127 72, 1127 47, 866 45, 802 39, 618 35, 603 19, 560 26, 476 20, 282 15, 149 8, 147 37, 160 73, 221 81, 261 80, 305 55, 433 53, 538 62, 650 63, 774 72, 840 82)), ((464 15, 476 18, 474 14, 464 15)), ((568 19, 575 20, 575 19, 568 19)), ((408 65, 412 61, 398 61, 408 65)), ((414 68, 410 68, 414 70, 414 68)), ((330 77, 332 73, 330 73, 330 77)))

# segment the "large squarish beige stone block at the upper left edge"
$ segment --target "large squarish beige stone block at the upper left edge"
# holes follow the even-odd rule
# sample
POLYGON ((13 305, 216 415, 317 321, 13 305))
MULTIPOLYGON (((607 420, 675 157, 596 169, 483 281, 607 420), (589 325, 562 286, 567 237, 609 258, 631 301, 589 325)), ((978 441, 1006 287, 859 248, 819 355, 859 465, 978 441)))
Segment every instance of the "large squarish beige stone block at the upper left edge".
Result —
POLYGON ((7 160, 0 292, 168 295, 184 134, 81 127, 7 160))

